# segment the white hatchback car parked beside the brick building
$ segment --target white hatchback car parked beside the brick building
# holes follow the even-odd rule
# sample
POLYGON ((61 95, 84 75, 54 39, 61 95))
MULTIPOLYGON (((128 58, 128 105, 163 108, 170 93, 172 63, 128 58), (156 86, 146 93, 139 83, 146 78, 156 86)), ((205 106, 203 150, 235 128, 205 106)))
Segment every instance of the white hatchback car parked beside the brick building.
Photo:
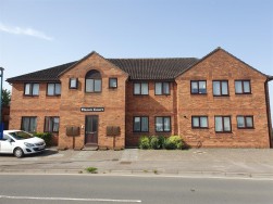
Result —
POLYGON ((4 130, 0 138, 0 153, 14 154, 18 158, 25 154, 42 152, 45 148, 45 140, 22 130, 4 130))

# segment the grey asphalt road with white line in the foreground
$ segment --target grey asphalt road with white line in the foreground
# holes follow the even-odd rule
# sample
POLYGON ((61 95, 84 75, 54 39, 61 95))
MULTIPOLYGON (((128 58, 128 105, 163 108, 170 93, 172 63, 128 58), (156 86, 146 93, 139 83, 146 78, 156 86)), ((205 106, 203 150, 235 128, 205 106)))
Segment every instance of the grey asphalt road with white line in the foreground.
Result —
POLYGON ((0 175, 0 204, 272 204, 273 180, 0 175))

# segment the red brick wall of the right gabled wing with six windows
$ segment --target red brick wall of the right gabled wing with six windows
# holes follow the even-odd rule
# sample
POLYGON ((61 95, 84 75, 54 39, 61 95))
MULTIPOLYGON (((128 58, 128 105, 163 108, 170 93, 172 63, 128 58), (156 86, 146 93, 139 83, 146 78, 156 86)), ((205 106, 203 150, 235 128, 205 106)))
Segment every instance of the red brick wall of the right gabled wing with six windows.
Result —
POLYGON ((176 78, 179 135, 193 146, 269 148, 264 81, 222 50, 208 56, 176 78), (207 79, 208 94, 190 94, 190 80, 201 79, 207 79), (229 97, 213 97, 212 80, 219 79, 228 80, 229 97), (235 94, 235 79, 250 79, 251 94, 235 94), (208 115, 209 129, 191 129, 191 115, 208 115), (215 133, 215 115, 232 116, 232 133, 215 133), (238 129, 237 115, 253 115, 255 129, 238 129))

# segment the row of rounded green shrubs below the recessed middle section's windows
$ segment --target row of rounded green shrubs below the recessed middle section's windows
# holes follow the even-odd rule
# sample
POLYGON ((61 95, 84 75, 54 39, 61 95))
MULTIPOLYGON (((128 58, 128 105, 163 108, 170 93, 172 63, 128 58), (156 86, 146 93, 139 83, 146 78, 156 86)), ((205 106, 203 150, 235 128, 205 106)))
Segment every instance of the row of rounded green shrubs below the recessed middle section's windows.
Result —
POLYGON ((147 149, 153 149, 153 150, 160 150, 160 149, 166 149, 166 150, 185 150, 189 146, 185 143, 185 141, 179 136, 171 136, 169 138, 165 138, 163 136, 142 136, 139 139, 139 148, 147 150, 147 149))

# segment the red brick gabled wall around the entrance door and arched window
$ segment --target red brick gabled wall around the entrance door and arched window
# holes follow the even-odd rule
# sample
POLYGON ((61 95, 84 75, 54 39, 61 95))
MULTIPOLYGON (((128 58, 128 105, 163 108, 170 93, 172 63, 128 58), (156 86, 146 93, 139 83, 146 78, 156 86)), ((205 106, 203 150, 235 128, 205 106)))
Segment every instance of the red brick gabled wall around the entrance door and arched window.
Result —
POLYGON ((98 145, 113 148, 113 137, 107 137, 107 126, 119 126, 121 135, 115 138, 115 148, 125 145, 125 84, 127 74, 92 54, 61 76, 62 97, 60 105, 59 148, 73 148, 73 138, 66 136, 67 126, 80 127, 80 136, 75 138, 76 149, 85 145, 85 116, 99 116, 98 145), (85 76, 97 69, 102 76, 100 93, 85 92, 85 76), (70 78, 78 78, 78 89, 69 89, 70 78), (109 89, 109 77, 117 78, 117 89, 109 89), (80 112, 80 107, 104 107, 104 112, 80 112))

